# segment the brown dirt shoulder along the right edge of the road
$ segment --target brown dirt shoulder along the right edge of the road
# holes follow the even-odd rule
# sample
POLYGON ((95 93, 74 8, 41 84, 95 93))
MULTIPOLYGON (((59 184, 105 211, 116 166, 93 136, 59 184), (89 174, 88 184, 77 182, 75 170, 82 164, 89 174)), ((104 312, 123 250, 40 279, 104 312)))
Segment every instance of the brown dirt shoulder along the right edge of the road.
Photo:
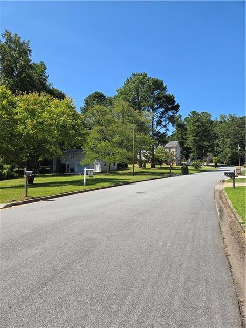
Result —
POLYGON ((223 193, 223 182, 215 187, 215 203, 218 211, 220 230, 224 241, 224 249, 230 265, 235 285, 242 325, 245 322, 245 236, 237 217, 230 208, 223 193))

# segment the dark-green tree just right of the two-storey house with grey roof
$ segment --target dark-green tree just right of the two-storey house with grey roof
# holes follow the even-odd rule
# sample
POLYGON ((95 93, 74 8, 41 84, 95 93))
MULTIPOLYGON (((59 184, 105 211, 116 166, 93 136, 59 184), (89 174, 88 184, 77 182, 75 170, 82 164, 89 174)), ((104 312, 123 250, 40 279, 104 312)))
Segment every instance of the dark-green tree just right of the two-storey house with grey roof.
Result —
POLYGON ((187 146, 192 150, 191 156, 204 158, 207 153, 213 151, 214 135, 213 120, 208 112, 198 113, 191 111, 185 118, 187 127, 187 146))

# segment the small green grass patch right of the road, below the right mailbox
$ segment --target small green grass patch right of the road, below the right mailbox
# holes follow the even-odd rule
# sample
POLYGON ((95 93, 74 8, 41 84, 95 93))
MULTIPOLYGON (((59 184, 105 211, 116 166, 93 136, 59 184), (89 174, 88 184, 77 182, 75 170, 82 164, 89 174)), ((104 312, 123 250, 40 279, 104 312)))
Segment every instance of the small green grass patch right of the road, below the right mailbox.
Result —
POLYGON ((237 211, 241 217, 244 224, 246 224, 246 208, 245 208, 245 198, 246 198, 246 187, 226 187, 227 196, 230 199, 234 209, 237 211))

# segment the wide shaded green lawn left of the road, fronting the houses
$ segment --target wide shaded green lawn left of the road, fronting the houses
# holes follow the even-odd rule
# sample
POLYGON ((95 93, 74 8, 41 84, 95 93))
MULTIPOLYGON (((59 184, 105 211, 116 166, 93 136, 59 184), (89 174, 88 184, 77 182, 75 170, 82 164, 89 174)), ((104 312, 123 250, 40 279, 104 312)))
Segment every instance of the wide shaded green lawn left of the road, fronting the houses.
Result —
MULTIPOLYGON (((37 174, 34 185, 28 186, 28 198, 37 198, 56 195, 71 191, 79 191, 97 187, 120 185, 125 182, 135 182, 151 178, 163 178, 180 174, 180 166, 175 166, 172 173, 168 167, 163 168, 135 168, 135 176, 132 176, 132 168, 112 172, 111 174, 95 174, 94 178, 86 179, 83 186, 83 175, 58 175, 37 174)), ((189 167, 190 173, 198 173, 207 170, 194 170, 189 167)), ((24 178, 0 181, 0 203, 8 203, 17 200, 28 199, 24 197, 24 178)))

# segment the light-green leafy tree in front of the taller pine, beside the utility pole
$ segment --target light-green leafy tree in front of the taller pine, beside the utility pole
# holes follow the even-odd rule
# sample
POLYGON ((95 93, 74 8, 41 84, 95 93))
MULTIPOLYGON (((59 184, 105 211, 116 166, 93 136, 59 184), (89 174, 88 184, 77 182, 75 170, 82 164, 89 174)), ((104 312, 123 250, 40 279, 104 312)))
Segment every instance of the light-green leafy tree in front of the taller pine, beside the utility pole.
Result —
POLYGON ((148 118, 139 115, 128 103, 116 101, 112 108, 95 105, 89 108, 86 119, 90 122, 87 140, 84 145, 85 162, 103 160, 108 164, 107 172, 113 162, 129 162, 132 156, 132 131, 136 127, 136 147, 150 143, 149 135, 145 135, 137 126, 148 126, 148 118), (141 122, 141 124, 140 124, 141 122))

